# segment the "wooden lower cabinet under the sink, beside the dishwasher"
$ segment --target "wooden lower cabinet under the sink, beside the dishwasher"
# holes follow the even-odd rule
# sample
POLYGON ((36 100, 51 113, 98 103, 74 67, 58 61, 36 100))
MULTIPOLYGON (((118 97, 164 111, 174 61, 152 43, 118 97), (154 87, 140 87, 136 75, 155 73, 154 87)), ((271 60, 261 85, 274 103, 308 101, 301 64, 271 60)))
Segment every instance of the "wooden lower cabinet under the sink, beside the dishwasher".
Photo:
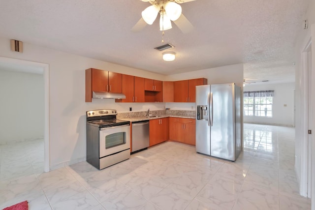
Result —
POLYGON ((150 120, 150 144, 157 145, 169 139, 169 119, 160 118, 150 120))

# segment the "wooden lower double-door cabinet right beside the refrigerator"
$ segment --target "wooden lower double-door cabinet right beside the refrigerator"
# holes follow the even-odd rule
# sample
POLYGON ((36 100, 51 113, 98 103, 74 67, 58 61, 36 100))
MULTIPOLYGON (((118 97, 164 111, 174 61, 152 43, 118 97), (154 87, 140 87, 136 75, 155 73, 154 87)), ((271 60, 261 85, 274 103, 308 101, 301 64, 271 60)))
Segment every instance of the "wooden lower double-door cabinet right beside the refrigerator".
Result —
POLYGON ((169 139, 188 145, 196 145, 196 120, 169 118, 169 139))

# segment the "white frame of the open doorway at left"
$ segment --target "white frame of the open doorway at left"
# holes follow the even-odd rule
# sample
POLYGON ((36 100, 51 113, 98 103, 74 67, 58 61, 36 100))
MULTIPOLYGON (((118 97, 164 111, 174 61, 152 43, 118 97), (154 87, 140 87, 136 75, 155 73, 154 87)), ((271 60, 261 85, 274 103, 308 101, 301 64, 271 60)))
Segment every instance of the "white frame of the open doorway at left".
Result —
POLYGON ((28 60, 19 60, 0 57, 1 63, 6 63, 10 66, 24 66, 23 72, 43 74, 44 77, 44 172, 50 171, 50 144, 49 144, 49 64, 33 62, 28 60))

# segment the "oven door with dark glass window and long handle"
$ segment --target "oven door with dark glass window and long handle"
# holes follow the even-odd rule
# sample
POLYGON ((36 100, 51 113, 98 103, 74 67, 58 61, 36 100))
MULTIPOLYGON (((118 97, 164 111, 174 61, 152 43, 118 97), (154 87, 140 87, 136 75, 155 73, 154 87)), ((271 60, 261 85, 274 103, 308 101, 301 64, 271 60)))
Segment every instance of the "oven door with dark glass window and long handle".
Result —
POLYGON ((101 128, 99 131, 99 157, 130 149, 130 125, 101 128))

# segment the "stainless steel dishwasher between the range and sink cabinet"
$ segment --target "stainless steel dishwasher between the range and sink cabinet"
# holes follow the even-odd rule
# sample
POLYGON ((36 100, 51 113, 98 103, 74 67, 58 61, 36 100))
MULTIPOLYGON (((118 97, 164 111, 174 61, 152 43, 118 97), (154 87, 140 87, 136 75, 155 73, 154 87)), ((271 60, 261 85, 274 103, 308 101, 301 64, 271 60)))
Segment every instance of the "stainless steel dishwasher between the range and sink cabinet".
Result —
POLYGON ((132 122, 131 153, 145 150, 149 147, 149 120, 132 122))

